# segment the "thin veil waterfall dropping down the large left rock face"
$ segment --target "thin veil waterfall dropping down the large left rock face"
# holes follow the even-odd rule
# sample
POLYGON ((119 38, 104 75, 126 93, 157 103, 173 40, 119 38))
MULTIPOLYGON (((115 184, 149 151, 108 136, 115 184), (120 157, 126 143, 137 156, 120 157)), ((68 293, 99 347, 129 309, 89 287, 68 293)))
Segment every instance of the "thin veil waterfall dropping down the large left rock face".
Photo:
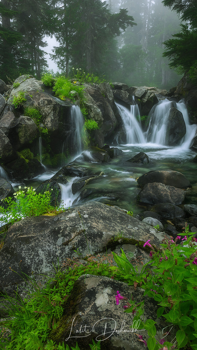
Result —
POLYGON ((84 125, 84 116, 77 105, 71 106, 70 112, 70 123, 73 129, 71 134, 71 145, 75 149, 75 153, 79 154, 83 151, 83 143, 82 143, 82 128, 84 125))

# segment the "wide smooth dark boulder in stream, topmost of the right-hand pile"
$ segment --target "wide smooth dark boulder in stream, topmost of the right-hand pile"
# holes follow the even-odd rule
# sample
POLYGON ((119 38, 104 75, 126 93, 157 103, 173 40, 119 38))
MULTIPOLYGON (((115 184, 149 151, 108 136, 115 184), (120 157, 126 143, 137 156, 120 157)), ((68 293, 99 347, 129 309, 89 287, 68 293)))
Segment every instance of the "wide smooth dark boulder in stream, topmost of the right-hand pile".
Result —
POLYGON ((146 183, 161 182, 164 185, 174 186, 177 188, 192 187, 186 177, 174 170, 152 170, 140 176, 137 180, 138 184, 143 187, 146 183))

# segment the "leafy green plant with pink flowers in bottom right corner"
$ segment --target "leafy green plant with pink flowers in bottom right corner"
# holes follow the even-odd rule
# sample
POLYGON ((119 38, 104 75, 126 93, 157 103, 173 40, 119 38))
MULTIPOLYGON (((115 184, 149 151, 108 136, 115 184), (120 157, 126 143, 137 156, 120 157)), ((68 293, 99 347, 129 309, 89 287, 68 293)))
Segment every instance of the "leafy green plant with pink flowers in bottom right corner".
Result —
MULTIPOLYGON (((173 345, 177 349, 186 345, 192 349, 197 347, 197 253, 193 235, 187 226, 180 244, 176 244, 179 238, 174 241, 166 237, 160 249, 154 249, 150 240, 147 241, 144 246, 149 245, 152 249, 152 261, 143 266, 141 273, 138 273, 137 267, 133 267, 123 251, 121 257, 113 253, 119 267, 118 277, 126 280, 128 285, 134 285, 135 288, 139 285, 145 289, 144 295, 153 297, 160 306, 157 317, 163 316, 175 329, 178 327, 176 339, 171 343, 164 342, 168 349, 173 345)), ((148 349, 158 350, 161 343, 155 339, 155 321, 144 322, 140 318, 144 308, 144 301, 139 304, 132 297, 125 312, 135 313, 133 321, 140 320, 140 328, 148 332, 148 349)))

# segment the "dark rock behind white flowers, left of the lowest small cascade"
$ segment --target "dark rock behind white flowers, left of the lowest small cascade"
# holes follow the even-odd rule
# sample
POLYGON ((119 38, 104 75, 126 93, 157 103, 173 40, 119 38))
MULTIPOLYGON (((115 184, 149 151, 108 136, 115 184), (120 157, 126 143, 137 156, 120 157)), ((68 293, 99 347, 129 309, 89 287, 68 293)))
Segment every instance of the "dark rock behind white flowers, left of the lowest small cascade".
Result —
POLYGON ((36 188, 36 193, 44 194, 45 191, 50 191, 51 201, 53 207, 58 207, 61 203, 62 193, 59 184, 55 180, 45 180, 40 186, 36 188))

